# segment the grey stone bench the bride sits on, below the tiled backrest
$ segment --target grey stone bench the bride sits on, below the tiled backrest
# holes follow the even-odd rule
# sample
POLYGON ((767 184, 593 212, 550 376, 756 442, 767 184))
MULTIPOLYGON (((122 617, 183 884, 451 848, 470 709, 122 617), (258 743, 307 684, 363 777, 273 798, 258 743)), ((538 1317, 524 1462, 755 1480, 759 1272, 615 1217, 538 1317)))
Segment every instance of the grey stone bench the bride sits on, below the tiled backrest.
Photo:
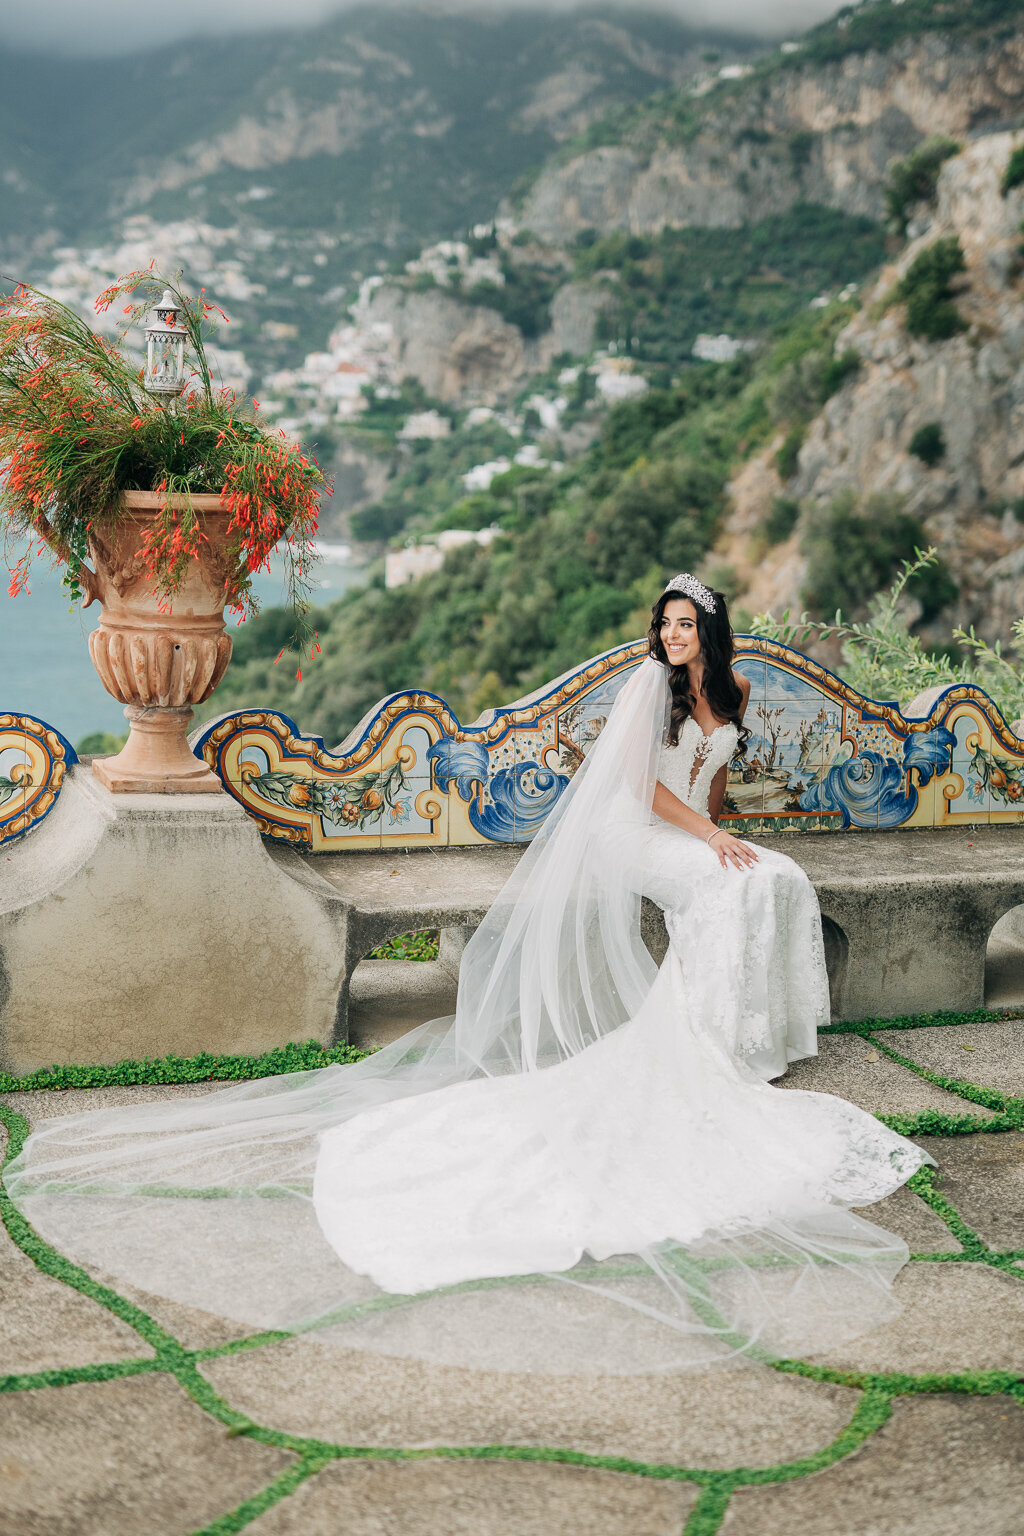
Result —
MULTIPOLYGON (((979 1008, 995 923, 1024 905, 1024 829, 803 833, 758 837, 808 872, 821 905, 835 1020, 979 1008)), ((450 969, 514 869, 522 848, 439 848, 273 859, 339 903, 344 985, 338 1038, 359 962, 404 932, 441 929, 450 969)), ((1024 914, 1022 914, 1024 915, 1024 914)), ((1024 925, 1022 925, 1024 928, 1024 925)), ((662 915, 645 903, 648 948, 660 958, 662 915)), ((1022 951, 1024 958, 1024 951, 1022 951)), ((415 977, 410 975, 415 985, 415 977)))

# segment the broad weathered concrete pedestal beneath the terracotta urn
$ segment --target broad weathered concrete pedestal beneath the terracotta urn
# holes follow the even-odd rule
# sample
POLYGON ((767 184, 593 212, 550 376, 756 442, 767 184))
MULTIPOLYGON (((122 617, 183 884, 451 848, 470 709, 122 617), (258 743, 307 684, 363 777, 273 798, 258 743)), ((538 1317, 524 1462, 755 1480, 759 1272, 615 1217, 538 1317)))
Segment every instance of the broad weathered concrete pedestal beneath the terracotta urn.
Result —
POLYGON ((111 794, 74 768, 0 851, 0 1069, 327 1044, 344 914, 227 794, 111 794))

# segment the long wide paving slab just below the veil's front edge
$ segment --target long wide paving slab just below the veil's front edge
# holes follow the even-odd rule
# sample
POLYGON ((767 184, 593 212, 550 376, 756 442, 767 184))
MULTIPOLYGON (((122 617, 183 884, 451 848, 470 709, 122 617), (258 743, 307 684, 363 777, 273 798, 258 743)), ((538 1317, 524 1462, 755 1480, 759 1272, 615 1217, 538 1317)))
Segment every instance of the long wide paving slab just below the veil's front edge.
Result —
POLYGON ((207 1361, 261 1424, 347 1445, 563 1445, 692 1467, 766 1467, 827 1445, 847 1387, 758 1366, 672 1376, 527 1376, 425 1366, 312 1341, 207 1361))

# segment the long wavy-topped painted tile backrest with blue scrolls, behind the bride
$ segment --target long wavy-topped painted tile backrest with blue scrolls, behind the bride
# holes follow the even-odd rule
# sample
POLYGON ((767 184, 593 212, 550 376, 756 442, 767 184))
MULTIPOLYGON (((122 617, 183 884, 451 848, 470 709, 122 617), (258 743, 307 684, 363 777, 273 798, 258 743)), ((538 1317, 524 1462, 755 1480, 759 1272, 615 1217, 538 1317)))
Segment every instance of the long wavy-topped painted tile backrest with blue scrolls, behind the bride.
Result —
MULTIPOLYGON (((329 751, 286 716, 226 716, 193 737, 269 837, 312 849, 524 843, 586 757, 645 654, 620 645, 462 725, 428 693, 391 694, 329 751)), ((926 719, 864 699, 800 651, 740 637, 746 753, 723 822, 743 833, 1024 822, 1024 742, 978 688, 926 719)), ((0 763, 2 766, 2 763, 0 763)))

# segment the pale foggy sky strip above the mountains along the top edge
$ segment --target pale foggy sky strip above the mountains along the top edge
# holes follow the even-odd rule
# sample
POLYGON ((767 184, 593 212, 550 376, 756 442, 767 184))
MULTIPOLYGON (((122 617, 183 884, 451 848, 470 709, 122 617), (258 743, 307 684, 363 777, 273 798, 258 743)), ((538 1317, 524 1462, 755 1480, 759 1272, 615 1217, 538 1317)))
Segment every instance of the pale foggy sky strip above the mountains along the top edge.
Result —
MULTIPOLYGON (((462 0, 465 9, 505 9, 510 3, 516 0, 462 0)), ((519 3, 570 9, 573 0, 519 3)), ((620 5, 629 9, 631 0, 620 5)), ((786 37, 832 15, 840 5, 841 0, 640 0, 636 8, 669 11, 695 25, 786 37)), ((341 9, 344 0, 173 0, 170 6, 150 8, 140 0, 0 0, 0 41, 64 55, 123 54, 195 35, 295 31, 341 9)))

